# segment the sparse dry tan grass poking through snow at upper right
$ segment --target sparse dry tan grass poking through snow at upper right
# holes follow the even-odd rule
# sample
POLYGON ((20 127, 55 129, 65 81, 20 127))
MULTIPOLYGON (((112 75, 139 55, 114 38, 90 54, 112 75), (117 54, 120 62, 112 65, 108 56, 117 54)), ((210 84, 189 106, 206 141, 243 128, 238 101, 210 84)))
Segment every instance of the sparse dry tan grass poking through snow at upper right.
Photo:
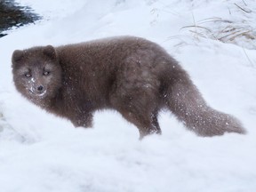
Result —
MULTIPOLYGON (((245 15, 253 13, 244 1, 243 4, 234 5, 236 6, 237 11, 244 12, 245 15)), ((228 12, 232 14, 229 9, 228 12)), ((220 17, 212 17, 196 21, 194 15, 193 20, 193 25, 185 26, 180 28, 180 30, 188 29, 188 31, 196 38, 211 38, 223 43, 239 44, 239 42, 244 41, 250 44, 250 42, 256 40, 255 28, 252 28, 250 24, 246 24, 248 23, 246 20, 235 22, 220 17)), ((250 48, 256 49, 256 45, 251 44, 250 48)))

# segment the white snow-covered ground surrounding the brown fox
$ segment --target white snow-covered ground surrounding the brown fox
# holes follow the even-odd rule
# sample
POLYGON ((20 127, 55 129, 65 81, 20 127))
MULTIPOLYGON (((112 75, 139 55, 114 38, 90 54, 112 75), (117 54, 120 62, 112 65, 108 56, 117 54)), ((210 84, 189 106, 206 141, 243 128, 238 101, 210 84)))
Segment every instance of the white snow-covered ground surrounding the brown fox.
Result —
POLYGON ((44 20, 0 39, 1 192, 256 191, 256 4, 254 0, 19 0, 44 20), (201 138, 169 112, 162 136, 139 132, 113 111, 75 129, 16 92, 15 49, 106 36, 164 46, 213 108, 246 135, 201 138))

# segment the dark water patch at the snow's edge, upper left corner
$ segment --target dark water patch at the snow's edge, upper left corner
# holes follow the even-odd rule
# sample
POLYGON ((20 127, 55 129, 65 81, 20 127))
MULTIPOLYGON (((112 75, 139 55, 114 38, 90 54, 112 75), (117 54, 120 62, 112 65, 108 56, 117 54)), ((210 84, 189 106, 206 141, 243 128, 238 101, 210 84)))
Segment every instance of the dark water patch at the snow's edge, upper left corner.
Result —
POLYGON ((29 7, 21 6, 14 0, 0 0, 0 37, 6 36, 8 29, 20 28, 40 19, 42 17, 29 7))

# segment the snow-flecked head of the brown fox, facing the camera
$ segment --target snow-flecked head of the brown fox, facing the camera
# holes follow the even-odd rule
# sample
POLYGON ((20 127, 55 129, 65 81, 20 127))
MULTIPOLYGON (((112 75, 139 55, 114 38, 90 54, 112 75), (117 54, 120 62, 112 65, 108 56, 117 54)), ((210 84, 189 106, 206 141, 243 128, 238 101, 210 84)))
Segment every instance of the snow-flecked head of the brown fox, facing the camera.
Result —
POLYGON ((12 74, 17 90, 32 101, 52 99, 60 89, 60 62, 52 45, 14 51, 12 74))

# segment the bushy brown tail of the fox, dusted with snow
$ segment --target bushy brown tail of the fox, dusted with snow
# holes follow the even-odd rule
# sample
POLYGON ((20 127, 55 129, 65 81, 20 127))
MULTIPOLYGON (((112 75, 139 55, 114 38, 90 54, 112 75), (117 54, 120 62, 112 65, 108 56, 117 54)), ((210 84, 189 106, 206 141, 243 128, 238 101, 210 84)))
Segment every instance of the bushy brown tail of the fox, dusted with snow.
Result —
POLYGON ((242 124, 234 116, 210 108, 188 74, 181 69, 169 84, 166 103, 172 113, 188 129, 200 136, 222 135, 225 132, 245 133, 242 124))

